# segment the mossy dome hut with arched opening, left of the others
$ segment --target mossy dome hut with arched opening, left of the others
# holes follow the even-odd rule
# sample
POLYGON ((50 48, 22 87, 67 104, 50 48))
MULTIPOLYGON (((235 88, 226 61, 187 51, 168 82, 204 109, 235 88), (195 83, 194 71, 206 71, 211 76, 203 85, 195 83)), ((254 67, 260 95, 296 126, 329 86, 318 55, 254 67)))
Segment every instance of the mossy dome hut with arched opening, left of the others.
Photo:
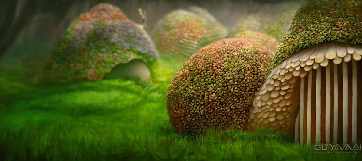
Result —
POLYGON ((118 7, 98 4, 69 26, 62 44, 37 72, 34 82, 99 80, 125 63, 127 70, 116 69, 137 72, 118 72, 119 77, 148 79, 148 67, 158 57, 142 26, 129 20, 118 7))

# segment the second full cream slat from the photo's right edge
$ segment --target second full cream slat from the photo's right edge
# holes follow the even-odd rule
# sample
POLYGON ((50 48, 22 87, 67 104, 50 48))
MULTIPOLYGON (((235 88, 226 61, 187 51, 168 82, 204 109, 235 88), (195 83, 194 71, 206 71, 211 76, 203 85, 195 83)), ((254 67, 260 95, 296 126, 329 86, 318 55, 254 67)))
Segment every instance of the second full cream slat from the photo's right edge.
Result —
POLYGON ((342 79, 343 79, 343 135, 342 144, 347 144, 348 135, 348 73, 347 63, 342 61, 342 79))

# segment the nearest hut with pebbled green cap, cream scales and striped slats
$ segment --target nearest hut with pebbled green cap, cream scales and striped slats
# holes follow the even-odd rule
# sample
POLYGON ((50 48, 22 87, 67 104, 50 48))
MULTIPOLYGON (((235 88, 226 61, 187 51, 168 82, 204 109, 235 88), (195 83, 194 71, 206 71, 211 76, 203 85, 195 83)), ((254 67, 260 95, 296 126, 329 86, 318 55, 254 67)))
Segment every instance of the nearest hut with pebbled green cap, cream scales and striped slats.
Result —
POLYGON ((314 144, 361 143, 362 2, 308 1, 296 12, 249 129, 270 127, 314 144))

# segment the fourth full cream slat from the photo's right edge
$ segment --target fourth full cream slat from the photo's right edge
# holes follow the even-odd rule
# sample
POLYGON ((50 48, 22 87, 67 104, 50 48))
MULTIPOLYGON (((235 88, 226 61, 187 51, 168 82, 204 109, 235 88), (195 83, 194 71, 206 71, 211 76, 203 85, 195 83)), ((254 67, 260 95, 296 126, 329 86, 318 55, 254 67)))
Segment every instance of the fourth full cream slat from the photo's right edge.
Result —
POLYGON ((331 73, 329 73, 329 65, 325 67, 325 144, 329 144, 331 130, 331 73))

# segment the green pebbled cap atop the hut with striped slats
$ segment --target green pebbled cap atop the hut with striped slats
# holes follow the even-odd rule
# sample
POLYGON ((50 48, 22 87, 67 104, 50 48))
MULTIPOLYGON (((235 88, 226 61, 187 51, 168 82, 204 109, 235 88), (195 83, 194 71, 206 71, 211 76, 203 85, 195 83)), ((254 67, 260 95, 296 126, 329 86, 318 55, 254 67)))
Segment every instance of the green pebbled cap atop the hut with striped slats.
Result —
POLYGON ((308 1, 298 9, 273 65, 289 55, 324 41, 362 43, 361 0, 308 1))

